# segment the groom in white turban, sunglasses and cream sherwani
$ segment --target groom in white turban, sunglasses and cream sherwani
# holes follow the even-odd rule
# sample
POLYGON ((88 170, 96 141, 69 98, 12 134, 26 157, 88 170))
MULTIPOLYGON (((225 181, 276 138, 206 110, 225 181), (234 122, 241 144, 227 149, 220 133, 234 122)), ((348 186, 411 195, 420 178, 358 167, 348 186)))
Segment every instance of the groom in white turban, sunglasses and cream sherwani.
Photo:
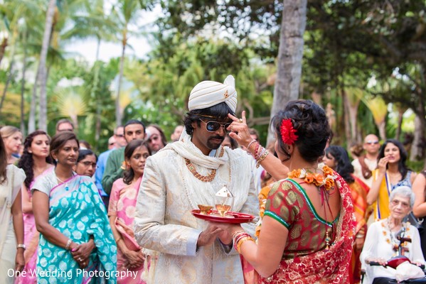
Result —
MULTIPOLYGON (((134 234, 140 246, 159 251, 153 283, 244 282, 231 236, 191 215, 198 204, 214 205, 224 185, 233 193, 233 211, 258 215, 251 156, 220 146, 236 107, 233 76, 223 84, 198 83, 181 140, 147 159, 134 234)), ((250 234, 256 221, 243 224, 250 234)))

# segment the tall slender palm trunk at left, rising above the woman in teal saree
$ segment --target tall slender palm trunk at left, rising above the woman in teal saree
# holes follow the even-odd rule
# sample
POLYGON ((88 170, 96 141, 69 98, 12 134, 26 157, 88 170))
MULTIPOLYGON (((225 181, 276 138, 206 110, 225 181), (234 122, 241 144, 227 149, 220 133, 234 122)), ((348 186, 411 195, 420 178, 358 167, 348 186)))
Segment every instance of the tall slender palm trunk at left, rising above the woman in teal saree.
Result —
POLYGON ((46 99, 46 58, 50 45, 50 34, 52 33, 53 16, 55 14, 56 0, 50 0, 46 13, 46 23, 44 26, 43 45, 41 47, 40 62, 38 64, 40 80, 40 111, 38 113, 38 128, 47 131, 47 99, 46 99))

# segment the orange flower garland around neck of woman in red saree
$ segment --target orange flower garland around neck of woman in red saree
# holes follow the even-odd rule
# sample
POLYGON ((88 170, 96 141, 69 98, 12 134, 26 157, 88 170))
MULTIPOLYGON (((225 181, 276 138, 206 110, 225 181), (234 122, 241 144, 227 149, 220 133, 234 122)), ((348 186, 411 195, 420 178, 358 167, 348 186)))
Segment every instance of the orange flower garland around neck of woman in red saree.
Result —
POLYGON ((319 166, 319 170, 322 170, 324 175, 320 173, 311 173, 305 169, 292 170, 288 173, 289 178, 300 178, 306 183, 312 183, 317 187, 324 187, 327 191, 334 187, 334 180, 337 176, 334 175, 334 170, 329 168, 327 165, 319 166))

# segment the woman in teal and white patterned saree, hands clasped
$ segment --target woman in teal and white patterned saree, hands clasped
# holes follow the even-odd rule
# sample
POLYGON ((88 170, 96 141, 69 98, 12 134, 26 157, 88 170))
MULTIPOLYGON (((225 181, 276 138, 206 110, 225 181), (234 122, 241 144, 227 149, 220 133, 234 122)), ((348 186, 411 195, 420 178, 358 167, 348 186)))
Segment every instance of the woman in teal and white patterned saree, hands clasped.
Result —
POLYGON ((36 180, 33 212, 40 231, 38 283, 115 283, 117 246, 97 188, 73 173, 78 140, 69 131, 50 143, 54 170, 36 180))

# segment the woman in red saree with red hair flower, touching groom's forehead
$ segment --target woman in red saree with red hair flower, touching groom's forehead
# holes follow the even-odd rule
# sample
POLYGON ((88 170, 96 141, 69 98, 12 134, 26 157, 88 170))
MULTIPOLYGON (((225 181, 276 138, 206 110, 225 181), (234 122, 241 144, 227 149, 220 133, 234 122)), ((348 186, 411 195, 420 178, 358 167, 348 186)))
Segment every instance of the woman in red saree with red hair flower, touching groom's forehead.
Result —
MULTIPOLYGON (((257 163, 266 163, 265 148, 247 135, 245 115, 230 117, 235 131, 230 136, 257 163)), ((257 243, 240 225, 215 226, 228 232, 244 258, 245 283, 349 283, 353 204, 343 178, 318 165, 331 133, 324 109, 311 101, 292 101, 272 119, 272 126, 275 151, 289 173, 272 185, 257 243)))

